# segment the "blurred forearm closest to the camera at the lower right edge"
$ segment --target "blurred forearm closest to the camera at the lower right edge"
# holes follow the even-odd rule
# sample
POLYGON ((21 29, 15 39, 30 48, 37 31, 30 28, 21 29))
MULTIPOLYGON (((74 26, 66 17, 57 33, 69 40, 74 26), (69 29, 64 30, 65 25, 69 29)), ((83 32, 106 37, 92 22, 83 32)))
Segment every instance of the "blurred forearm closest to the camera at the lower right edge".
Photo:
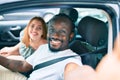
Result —
POLYGON ((120 35, 114 43, 112 53, 108 53, 96 68, 100 80, 120 80, 120 35))

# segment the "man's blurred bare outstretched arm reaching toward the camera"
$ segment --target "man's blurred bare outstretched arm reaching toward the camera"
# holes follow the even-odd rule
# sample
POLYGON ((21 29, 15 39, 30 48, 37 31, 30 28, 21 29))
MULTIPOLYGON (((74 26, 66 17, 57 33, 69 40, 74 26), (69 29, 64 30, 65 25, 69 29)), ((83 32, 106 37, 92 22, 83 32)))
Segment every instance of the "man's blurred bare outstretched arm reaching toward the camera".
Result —
POLYGON ((88 65, 78 66, 69 63, 65 68, 65 80, 120 80, 120 35, 114 43, 114 49, 108 53, 94 70, 88 65), (71 68, 72 66, 74 68, 71 68))

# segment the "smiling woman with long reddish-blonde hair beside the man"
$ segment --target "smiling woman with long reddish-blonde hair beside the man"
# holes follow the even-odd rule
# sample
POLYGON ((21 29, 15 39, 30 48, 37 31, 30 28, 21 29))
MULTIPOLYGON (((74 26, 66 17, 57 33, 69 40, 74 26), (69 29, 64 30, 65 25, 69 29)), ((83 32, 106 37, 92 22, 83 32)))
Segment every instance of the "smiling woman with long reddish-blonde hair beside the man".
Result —
POLYGON ((47 43, 47 27, 41 17, 33 17, 21 34, 20 42, 13 47, 2 48, 0 55, 6 57, 10 55, 21 55, 26 59, 33 54, 40 45, 47 43))

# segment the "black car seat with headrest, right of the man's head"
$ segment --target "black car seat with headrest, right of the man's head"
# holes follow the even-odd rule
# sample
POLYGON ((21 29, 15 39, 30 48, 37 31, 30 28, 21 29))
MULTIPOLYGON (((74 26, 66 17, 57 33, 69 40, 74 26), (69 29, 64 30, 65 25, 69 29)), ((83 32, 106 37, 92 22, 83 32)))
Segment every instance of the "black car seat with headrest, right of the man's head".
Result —
POLYGON ((107 25, 101 20, 86 16, 79 21, 77 29, 81 38, 76 38, 70 48, 81 56, 83 64, 95 68, 107 52, 107 25))

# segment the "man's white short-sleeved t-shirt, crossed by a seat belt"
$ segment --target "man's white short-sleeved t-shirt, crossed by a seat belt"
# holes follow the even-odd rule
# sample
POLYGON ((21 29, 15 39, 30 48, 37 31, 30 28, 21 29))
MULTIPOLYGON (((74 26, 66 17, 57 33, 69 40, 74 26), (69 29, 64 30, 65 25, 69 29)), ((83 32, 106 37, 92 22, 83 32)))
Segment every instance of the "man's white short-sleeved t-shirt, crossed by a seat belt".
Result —
MULTIPOLYGON (((72 50, 67 49, 59 52, 51 52, 48 44, 40 46, 34 54, 26 59, 26 61, 34 67, 37 64, 49 61, 63 56, 77 55, 72 50)), ((82 65, 80 56, 67 58, 47 67, 37 69, 30 74, 28 80, 63 80, 65 65, 69 62, 75 62, 82 65)))

